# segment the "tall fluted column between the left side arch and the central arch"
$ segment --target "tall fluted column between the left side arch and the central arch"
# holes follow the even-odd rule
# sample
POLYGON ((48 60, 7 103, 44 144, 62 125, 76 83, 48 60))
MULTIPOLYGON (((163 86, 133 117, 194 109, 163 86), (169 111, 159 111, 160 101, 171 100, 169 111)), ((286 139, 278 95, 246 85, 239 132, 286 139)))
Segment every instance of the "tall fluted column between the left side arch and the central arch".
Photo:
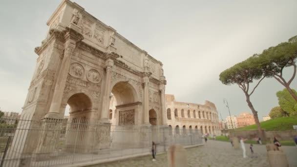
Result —
POLYGON ((113 60, 108 59, 106 61, 106 78, 104 84, 103 104, 101 111, 101 121, 107 121, 109 115, 109 96, 111 92, 111 68, 113 66, 113 60))

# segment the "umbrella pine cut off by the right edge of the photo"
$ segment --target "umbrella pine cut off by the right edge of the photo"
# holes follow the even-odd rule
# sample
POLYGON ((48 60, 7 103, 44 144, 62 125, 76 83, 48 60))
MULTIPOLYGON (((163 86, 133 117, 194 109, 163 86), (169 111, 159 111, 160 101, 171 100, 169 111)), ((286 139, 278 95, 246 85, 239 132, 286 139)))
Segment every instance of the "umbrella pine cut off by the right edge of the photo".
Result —
POLYGON ((289 39, 288 42, 279 43, 277 46, 270 47, 256 55, 255 63, 261 66, 266 77, 273 77, 280 84, 285 86, 291 96, 297 101, 297 95, 293 92, 290 84, 296 76, 296 59, 297 59, 297 36, 289 39), (286 81, 283 77, 283 69, 293 67, 291 78, 286 81))

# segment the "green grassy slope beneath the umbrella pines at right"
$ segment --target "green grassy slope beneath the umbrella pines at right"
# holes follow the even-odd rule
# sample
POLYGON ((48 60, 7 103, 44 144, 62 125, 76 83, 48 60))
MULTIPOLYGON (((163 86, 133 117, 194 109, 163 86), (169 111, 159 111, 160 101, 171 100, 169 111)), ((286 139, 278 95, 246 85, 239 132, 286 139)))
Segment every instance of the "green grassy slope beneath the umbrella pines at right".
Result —
MULTIPOLYGON (((294 130, 293 125, 297 125, 297 117, 275 118, 275 119, 261 122, 260 124, 261 124, 261 128, 266 129, 266 131, 294 130)), ((257 126, 250 125, 250 126, 237 128, 235 130, 251 130, 251 129, 257 129, 257 126)))

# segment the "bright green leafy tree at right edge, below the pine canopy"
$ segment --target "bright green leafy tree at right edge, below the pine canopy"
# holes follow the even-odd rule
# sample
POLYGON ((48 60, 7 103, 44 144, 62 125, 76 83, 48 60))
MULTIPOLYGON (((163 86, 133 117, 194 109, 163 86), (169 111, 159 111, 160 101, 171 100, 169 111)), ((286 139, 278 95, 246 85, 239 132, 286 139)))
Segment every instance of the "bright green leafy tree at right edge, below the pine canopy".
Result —
MULTIPOLYGON (((292 89, 292 91, 297 95, 297 92, 294 89, 292 89)), ((297 102, 287 89, 276 92, 276 96, 278 98, 278 104, 282 110, 287 112, 290 116, 297 116, 297 102)))

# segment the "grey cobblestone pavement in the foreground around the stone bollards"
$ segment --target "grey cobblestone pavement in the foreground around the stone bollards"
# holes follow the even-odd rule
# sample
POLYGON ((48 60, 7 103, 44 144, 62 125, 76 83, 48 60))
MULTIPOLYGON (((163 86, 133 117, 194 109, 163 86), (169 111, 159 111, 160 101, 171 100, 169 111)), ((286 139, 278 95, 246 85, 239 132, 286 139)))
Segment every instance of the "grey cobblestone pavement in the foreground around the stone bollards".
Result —
MULTIPOLYGON (((229 142, 208 141, 204 146, 187 149, 188 167, 269 167, 265 145, 254 145, 252 156, 249 144, 246 144, 248 158, 243 158, 242 149, 233 149, 229 142)), ((297 167, 297 147, 282 146, 290 167, 297 167)), ((167 167, 167 154, 138 157, 129 160, 111 162, 91 167, 167 167)))

